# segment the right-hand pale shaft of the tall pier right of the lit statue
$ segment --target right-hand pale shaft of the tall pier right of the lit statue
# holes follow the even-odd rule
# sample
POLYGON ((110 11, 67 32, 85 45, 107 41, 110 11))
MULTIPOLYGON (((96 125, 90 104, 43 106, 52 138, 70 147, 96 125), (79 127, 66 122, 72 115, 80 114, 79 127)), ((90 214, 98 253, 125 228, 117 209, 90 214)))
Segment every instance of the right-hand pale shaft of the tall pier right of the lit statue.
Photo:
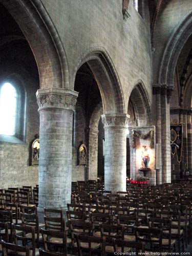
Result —
POLYGON ((162 156, 162 182, 171 182, 170 167, 170 107, 169 91, 166 84, 161 86, 161 156, 162 156))

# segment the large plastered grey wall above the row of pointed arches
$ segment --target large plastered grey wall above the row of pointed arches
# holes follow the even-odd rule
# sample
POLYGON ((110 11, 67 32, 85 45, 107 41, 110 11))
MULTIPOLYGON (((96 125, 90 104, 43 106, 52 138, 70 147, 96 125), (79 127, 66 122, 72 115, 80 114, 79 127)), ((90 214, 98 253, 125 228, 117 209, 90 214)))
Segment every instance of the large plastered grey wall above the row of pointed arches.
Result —
POLYGON ((42 0, 65 48, 71 87, 83 56, 101 47, 108 52, 119 76, 127 106, 129 96, 141 79, 151 92, 150 24, 129 5, 131 17, 122 15, 122 1, 42 0), (62 17, 62 18, 61 18, 62 17))

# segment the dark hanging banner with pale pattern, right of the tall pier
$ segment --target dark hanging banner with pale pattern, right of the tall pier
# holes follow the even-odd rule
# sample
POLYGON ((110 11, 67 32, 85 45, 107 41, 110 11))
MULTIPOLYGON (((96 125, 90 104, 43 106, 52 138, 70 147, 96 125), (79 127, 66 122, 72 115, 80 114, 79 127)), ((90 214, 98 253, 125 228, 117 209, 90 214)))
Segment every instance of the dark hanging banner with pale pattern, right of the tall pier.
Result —
POLYGON ((177 156, 178 163, 182 156, 182 124, 170 125, 170 147, 172 155, 177 156))

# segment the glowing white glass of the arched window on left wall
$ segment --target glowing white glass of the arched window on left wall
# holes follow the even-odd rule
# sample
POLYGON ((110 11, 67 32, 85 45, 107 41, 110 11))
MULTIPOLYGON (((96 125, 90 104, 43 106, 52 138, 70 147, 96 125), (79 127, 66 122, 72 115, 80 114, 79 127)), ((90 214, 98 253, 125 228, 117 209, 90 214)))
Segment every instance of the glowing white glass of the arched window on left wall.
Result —
POLYGON ((15 135, 17 93, 11 83, 4 83, 0 91, 0 134, 15 135))

